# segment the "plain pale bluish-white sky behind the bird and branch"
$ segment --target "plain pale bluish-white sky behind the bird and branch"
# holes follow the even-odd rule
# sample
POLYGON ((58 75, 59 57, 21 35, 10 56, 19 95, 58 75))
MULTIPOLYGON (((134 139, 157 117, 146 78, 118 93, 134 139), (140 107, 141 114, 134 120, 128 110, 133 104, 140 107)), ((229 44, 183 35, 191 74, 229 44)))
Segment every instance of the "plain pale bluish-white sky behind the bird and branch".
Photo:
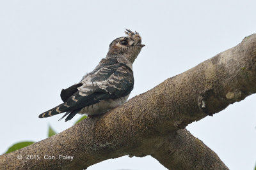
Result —
MULTIPOLYGON (((48 125, 61 132, 72 121, 38 118, 61 103, 60 91, 106 56, 124 29, 140 32, 131 97, 182 73, 256 32, 256 1, 0 1, 0 153, 19 141, 40 141, 48 125)), ((247 97, 188 130, 230 169, 256 162, 256 96, 247 97)), ((34 154, 34 153, 31 153, 34 154)), ((151 157, 106 160, 93 169, 166 169, 151 157)))

